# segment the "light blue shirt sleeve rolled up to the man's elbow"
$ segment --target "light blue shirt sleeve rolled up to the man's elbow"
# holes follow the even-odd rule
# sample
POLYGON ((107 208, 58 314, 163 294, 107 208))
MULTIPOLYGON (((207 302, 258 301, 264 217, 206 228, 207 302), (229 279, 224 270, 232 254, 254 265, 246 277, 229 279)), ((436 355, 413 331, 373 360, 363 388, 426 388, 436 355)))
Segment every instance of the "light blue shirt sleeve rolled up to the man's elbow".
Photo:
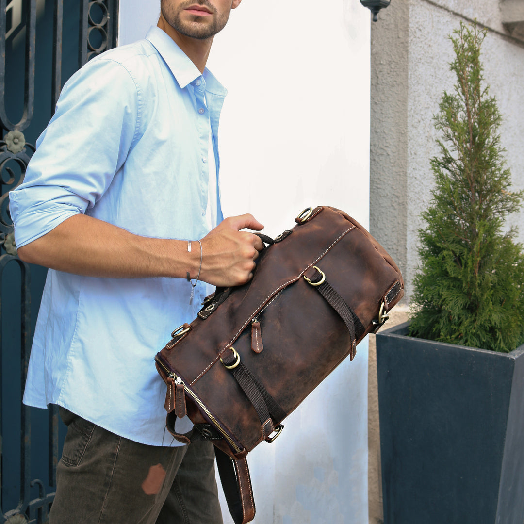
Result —
POLYGON ((9 193, 16 246, 99 200, 133 147, 139 93, 121 63, 95 59, 65 84, 23 183, 9 193))

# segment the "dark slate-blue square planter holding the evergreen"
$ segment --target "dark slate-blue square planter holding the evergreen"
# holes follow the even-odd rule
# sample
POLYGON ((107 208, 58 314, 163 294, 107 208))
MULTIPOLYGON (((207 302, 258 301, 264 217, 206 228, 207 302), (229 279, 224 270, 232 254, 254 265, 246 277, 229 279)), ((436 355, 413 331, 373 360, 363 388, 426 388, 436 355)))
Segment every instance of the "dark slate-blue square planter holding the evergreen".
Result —
POLYGON ((384 524, 524 522, 524 345, 377 334, 384 524))

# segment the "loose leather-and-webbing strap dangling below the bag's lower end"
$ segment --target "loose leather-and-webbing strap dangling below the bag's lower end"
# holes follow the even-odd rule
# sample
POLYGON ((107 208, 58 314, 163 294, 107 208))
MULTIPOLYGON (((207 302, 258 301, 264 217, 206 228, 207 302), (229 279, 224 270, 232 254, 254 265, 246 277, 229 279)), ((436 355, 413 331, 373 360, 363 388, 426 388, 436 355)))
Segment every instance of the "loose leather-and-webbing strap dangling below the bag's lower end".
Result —
POLYGON ((227 507, 235 524, 246 524, 255 518, 255 500, 247 460, 232 459, 215 447, 216 464, 224 489, 227 507))

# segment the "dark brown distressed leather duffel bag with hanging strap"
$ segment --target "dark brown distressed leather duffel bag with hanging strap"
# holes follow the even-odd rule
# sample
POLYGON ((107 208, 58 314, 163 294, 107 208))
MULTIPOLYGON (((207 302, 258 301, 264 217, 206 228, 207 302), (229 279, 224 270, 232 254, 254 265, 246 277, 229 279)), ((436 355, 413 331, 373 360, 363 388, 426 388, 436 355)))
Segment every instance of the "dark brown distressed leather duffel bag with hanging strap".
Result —
POLYGON ((216 446, 236 524, 255 516, 247 453, 275 440, 283 418, 353 359, 403 296, 394 261, 346 213, 319 206, 296 222, 274 240, 260 235, 269 246, 252 281, 217 289, 155 357, 167 428, 181 442, 216 446), (186 415, 193 429, 177 433, 176 418, 186 415))

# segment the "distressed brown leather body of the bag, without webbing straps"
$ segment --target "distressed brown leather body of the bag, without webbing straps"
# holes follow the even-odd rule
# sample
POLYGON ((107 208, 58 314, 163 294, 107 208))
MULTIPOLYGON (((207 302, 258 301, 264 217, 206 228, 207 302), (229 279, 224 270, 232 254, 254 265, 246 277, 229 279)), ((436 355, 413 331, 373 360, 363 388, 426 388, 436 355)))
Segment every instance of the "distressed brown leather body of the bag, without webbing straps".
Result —
MULTIPOLYGON (((170 341, 160 352, 245 451, 263 440, 263 428, 246 395, 220 362, 231 345, 287 414, 351 350, 344 322, 303 278, 312 266, 325 273, 366 327, 357 342, 372 331, 381 303, 397 282, 386 309, 403 296, 402 276, 385 249, 346 213, 316 208, 310 220, 264 249, 251 282, 235 288, 208 318, 195 319, 189 333, 170 341), (264 341, 260 353, 252 349, 254 318, 264 341)), ((172 403, 167 405, 174 409, 172 403)), ((204 420, 190 401, 188 416, 194 423, 204 420)), ((220 447, 233 456, 226 444, 220 447)))

